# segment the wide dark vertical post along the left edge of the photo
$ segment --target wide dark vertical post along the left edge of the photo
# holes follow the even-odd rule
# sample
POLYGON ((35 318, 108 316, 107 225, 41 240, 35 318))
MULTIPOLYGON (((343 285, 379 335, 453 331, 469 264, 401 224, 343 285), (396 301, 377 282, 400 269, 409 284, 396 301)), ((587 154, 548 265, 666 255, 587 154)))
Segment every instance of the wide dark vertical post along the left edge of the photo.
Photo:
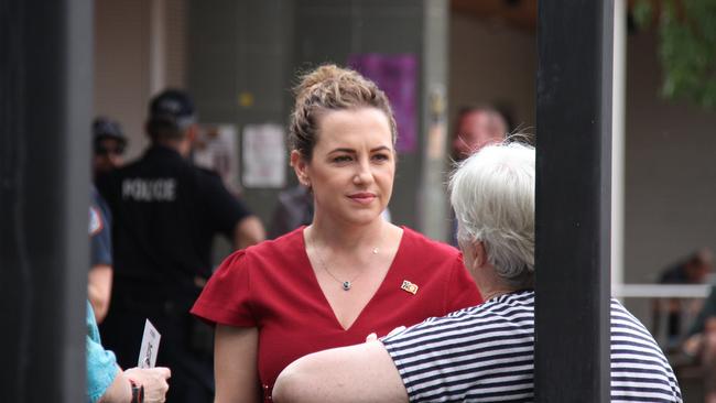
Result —
POLYGON ((0 401, 84 402, 91 0, 0 1, 0 401))

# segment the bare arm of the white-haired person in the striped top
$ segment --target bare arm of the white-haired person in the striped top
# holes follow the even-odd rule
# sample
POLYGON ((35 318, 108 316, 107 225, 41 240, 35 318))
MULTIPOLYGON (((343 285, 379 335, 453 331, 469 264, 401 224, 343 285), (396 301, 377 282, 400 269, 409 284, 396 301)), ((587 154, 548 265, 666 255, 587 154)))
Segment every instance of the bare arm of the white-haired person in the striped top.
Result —
POLYGON ((408 402, 408 392, 380 341, 334 348, 295 360, 273 386, 279 403, 408 402))

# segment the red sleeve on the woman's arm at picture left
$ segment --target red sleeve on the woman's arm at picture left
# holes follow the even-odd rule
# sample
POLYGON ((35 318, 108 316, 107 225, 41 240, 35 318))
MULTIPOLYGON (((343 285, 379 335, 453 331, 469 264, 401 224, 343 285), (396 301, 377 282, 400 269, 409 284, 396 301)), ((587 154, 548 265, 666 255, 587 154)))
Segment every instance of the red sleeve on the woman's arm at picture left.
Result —
POLYGON ((192 314, 211 324, 257 326, 251 308, 248 261, 249 258, 243 250, 226 258, 194 303, 192 314))

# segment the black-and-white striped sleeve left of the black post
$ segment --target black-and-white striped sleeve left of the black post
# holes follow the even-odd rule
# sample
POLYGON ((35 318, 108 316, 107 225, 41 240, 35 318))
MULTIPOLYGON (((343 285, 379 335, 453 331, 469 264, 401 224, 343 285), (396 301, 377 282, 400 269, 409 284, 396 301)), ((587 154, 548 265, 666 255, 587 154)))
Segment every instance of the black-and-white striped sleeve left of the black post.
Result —
POLYGON ((411 402, 532 400, 532 308, 517 296, 511 299, 430 319, 383 339, 411 402))

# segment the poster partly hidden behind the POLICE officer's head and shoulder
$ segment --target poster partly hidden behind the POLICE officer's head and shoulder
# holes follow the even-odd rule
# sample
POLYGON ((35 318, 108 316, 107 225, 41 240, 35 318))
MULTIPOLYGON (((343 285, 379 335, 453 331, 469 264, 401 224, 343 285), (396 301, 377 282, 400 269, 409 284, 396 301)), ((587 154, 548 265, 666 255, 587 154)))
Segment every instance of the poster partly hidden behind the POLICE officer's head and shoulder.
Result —
POLYGON ((192 152, 194 163, 216 172, 227 188, 239 193, 239 148, 234 124, 202 124, 192 152))

